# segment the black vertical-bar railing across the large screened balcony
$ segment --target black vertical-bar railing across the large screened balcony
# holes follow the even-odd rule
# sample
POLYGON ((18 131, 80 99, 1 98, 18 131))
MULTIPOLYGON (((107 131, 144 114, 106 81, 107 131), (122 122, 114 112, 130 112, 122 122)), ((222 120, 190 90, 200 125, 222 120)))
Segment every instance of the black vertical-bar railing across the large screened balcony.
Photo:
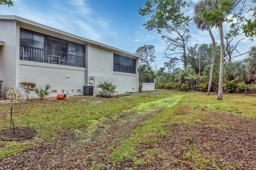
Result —
POLYGON ((85 67, 84 56, 70 55, 68 53, 61 53, 24 45, 20 45, 20 59, 42 63, 85 67))

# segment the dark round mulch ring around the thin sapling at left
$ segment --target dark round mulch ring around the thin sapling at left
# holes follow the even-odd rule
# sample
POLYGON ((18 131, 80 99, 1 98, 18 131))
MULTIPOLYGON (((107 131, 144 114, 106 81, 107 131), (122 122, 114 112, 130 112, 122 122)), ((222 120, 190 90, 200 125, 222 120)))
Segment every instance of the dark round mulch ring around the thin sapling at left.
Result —
MULTIPOLYGON (((12 128, 12 132, 14 129, 12 128)), ((36 135, 36 130, 28 127, 16 127, 14 134, 10 133, 10 128, 0 130, 0 140, 23 140, 36 135)))

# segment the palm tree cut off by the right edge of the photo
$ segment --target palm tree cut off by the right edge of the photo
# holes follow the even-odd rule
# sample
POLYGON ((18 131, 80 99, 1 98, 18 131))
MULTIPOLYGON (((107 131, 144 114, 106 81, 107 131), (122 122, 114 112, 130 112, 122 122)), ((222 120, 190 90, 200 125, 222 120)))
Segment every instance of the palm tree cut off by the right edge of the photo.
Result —
POLYGON ((244 59, 247 65, 248 80, 256 80, 256 45, 252 45, 249 50, 249 57, 244 59))

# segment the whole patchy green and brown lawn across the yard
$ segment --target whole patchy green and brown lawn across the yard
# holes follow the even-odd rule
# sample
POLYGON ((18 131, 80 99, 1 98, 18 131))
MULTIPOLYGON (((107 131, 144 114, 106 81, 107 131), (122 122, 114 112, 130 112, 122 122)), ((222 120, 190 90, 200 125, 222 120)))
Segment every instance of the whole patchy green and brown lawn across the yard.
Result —
MULTIPOLYGON (((255 106, 255 96, 224 94, 220 101, 216 94, 169 90, 21 101, 14 124, 38 134, 0 140, 0 167, 254 169, 255 106)), ((10 104, 0 107, 1 130, 10 126, 10 104)))

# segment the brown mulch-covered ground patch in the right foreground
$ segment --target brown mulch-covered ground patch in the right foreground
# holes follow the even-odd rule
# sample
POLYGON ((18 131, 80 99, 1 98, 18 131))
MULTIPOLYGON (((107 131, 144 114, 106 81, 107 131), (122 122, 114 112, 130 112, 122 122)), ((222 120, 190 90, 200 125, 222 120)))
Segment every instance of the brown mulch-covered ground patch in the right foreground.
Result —
MULTIPOLYGON (((256 169, 256 121, 232 115, 208 115, 218 121, 198 125, 172 125, 170 136, 150 149, 155 154, 150 164, 135 166, 132 160, 120 162, 120 168, 140 170, 166 169, 256 169), (204 159, 205 165, 200 165, 204 159), (212 162, 211 162, 212 161, 212 162)), ((144 146, 144 150, 147 146, 144 146)), ((143 150, 143 149, 142 149, 143 150)), ((142 158, 142 157, 141 157, 142 158)))

